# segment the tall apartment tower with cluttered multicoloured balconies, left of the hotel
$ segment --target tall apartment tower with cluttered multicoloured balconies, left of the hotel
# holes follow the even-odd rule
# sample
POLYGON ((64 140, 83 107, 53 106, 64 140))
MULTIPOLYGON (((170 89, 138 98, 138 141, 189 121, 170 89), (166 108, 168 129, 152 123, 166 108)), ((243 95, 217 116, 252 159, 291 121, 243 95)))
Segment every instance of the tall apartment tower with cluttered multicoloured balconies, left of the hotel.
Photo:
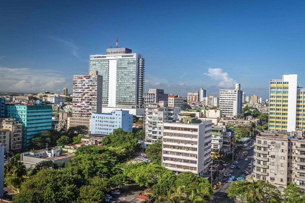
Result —
POLYGON ((73 117, 90 117, 102 113, 102 76, 97 71, 89 75, 73 75, 73 117))

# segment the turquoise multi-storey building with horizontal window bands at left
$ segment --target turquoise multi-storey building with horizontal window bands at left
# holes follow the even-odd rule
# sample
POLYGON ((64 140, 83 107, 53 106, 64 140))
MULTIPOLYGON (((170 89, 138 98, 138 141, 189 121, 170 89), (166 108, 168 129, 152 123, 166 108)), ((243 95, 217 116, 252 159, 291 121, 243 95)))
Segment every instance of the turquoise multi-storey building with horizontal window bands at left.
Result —
POLYGON ((31 139, 43 130, 52 129, 52 106, 36 104, 5 105, 5 117, 16 118, 22 124, 22 148, 30 147, 31 139))

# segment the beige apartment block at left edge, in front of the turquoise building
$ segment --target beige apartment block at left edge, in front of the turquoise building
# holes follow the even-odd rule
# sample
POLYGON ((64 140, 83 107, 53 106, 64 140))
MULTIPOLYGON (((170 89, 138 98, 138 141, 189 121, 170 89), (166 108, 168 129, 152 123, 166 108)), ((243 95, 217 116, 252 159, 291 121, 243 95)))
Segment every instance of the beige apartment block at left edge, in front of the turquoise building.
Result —
POLYGON ((17 151, 22 148, 22 124, 16 118, 2 118, 0 128, 9 130, 9 150, 17 151))

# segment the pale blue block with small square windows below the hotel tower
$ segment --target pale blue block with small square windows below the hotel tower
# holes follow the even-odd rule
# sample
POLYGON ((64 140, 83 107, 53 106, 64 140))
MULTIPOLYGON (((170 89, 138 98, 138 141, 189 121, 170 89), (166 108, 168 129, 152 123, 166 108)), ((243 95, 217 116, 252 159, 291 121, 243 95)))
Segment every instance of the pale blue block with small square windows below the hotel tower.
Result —
POLYGON ((92 114, 91 134, 109 135, 117 128, 132 132, 132 114, 129 114, 129 111, 115 110, 112 113, 92 114))

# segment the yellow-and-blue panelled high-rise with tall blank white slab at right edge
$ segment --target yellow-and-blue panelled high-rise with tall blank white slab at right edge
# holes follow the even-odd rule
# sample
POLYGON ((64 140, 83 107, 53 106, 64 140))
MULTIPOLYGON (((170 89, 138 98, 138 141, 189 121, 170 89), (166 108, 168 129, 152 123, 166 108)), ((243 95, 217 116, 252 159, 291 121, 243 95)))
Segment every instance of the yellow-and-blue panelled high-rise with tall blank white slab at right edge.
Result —
POLYGON ((282 75, 270 80, 270 131, 305 131, 305 89, 297 86, 297 75, 282 75))

